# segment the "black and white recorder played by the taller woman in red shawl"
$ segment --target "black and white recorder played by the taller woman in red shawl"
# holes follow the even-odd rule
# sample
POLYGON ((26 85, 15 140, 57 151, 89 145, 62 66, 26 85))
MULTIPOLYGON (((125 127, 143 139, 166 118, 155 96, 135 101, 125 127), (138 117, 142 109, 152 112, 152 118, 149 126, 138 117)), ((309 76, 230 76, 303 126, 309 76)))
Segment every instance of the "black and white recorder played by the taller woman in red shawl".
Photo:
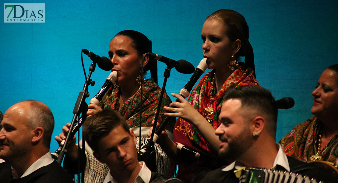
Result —
MULTIPOLYGON (((189 79, 188 83, 182 88, 182 90, 179 92, 179 95, 183 96, 184 98, 187 98, 189 96, 189 93, 192 89, 192 87, 195 85, 199 77, 204 73, 204 71, 207 69, 207 58, 202 59, 198 66, 196 67, 196 70, 194 74, 189 79)), ((175 100, 176 102, 179 102, 178 99, 175 100)), ((170 121, 171 117, 165 116, 159 125, 159 128, 156 130, 153 138, 153 142, 156 142, 156 140, 159 138, 159 135, 167 125, 167 123, 170 121)))

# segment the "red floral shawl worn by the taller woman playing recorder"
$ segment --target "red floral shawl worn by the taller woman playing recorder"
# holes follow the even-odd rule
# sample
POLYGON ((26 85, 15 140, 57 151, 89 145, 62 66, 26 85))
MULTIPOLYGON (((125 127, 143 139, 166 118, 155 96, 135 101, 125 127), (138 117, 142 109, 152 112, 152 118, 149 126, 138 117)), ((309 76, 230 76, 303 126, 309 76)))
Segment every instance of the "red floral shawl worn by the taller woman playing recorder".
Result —
MULTIPOLYGON (((244 64, 240 64, 237 70, 235 70, 224 82, 217 98, 213 101, 212 107, 214 109, 214 113, 210 116, 212 119, 212 125, 216 129, 218 127, 218 115, 220 113, 222 107, 222 99, 224 92, 227 88, 232 85, 236 87, 241 87, 245 85, 259 85, 256 78, 253 75, 253 70, 244 66, 244 64)), ((217 89, 213 86, 214 91, 212 92, 213 96, 209 96, 209 90, 211 85, 215 85, 212 82, 212 78, 214 77, 214 70, 210 71, 206 75, 204 75, 198 85, 193 89, 190 93, 188 101, 190 104, 203 116, 203 109, 209 107, 210 98, 216 97, 217 89)), ((193 148, 194 150, 201 152, 206 151, 210 153, 210 149, 208 147, 207 142, 203 139, 203 137, 199 134, 196 127, 185 121, 184 119, 178 118, 174 127, 173 135, 175 138, 175 142, 179 142, 185 144, 193 148)))

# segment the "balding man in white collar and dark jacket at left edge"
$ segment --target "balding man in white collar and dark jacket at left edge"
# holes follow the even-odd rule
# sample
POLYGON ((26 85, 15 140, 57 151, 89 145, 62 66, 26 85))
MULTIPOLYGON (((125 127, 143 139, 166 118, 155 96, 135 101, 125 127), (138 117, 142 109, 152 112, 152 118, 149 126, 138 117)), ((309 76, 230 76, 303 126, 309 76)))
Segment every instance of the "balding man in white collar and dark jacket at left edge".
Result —
POLYGON ((74 183, 51 157, 54 117, 45 104, 19 102, 5 112, 1 126, 0 158, 13 167, 9 183, 74 183))

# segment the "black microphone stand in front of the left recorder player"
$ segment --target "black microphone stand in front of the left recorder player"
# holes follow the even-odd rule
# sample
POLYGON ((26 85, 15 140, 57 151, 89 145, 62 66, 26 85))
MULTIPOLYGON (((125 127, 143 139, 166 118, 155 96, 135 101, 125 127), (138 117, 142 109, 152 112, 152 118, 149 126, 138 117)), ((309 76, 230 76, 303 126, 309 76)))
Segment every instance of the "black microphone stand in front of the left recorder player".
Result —
MULTIPOLYGON (((89 97, 89 93, 88 93, 88 85, 90 84, 91 86, 94 86, 95 85, 95 82, 92 81, 92 79, 90 78, 92 73, 95 71, 95 67, 96 67, 96 63, 92 63, 89 67, 89 74, 88 74, 88 77, 87 77, 87 80, 86 82, 84 83, 84 86, 83 86, 83 90, 80 91, 78 97, 77 97, 77 100, 76 100, 76 103, 75 103, 75 107, 74 107, 74 110, 73 110, 73 119, 72 119, 72 123, 70 125, 70 128, 69 128, 69 131, 68 132, 71 132, 74 128, 74 124, 76 122, 76 118, 80 115, 80 113, 82 113, 82 123, 86 120, 86 117, 87 117, 87 111, 88 111, 88 105, 87 103, 84 101, 86 100, 87 97, 89 97)), ((65 143, 64 143, 64 146, 59 154, 59 157, 57 158, 57 162, 61 165, 62 163, 62 160, 65 156, 65 154, 67 153, 67 150, 66 150, 66 147, 68 145, 68 142, 69 142, 69 139, 72 138, 70 136, 71 133, 68 133, 67 134, 67 137, 66 137, 66 140, 65 140, 65 143)), ((80 155, 80 154, 79 154, 80 155)))

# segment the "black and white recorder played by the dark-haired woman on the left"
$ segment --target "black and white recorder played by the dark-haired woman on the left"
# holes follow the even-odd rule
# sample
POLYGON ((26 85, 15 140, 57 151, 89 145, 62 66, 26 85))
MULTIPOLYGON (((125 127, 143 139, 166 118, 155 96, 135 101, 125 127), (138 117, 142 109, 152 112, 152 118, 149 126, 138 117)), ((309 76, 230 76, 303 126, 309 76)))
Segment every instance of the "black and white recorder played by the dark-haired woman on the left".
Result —
MULTIPOLYGON (((113 86, 113 84, 115 83, 115 81, 117 80, 117 72, 113 71, 109 74, 109 76, 106 78, 105 83, 103 84, 103 86, 101 87, 100 91, 94 96, 94 98, 92 98, 90 100, 90 104, 96 104, 97 106, 100 104, 100 101, 102 99, 102 97, 105 95, 105 93, 107 93, 108 89, 113 86)), ((80 129, 80 127, 82 126, 82 118, 80 118, 78 121, 76 121, 76 123, 74 124, 73 130, 70 132, 70 136, 73 137, 76 132, 80 129)), ((59 143, 59 147, 57 148, 57 150, 52 154, 52 158, 57 160, 59 157, 59 154, 62 150, 62 148, 64 147, 64 143, 65 140, 62 140, 59 143)))

